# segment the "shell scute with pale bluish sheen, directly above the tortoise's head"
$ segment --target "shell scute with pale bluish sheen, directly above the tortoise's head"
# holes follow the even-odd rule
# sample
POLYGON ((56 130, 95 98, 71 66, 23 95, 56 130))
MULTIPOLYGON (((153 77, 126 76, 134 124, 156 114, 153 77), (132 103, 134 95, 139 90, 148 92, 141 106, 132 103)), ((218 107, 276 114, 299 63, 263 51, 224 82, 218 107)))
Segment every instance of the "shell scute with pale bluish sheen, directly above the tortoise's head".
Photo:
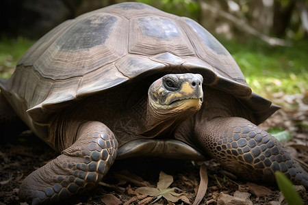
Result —
POLYGON ((146 14, 132 18, 129 27, 129 53, 150 56, 169 52, 179 57, 194 55, 188 36, 180 28, 172 18, 146 14))

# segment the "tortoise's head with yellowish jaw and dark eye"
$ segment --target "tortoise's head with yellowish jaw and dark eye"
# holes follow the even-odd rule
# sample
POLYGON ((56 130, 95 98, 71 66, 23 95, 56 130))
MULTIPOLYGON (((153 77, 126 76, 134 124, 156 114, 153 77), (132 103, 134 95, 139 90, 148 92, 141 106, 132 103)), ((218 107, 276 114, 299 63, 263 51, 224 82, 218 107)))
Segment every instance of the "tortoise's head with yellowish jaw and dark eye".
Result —
POLYGON ((155 113, 194 113, 203 102, 201 74, 166 74, 149 88, 149 105, 155 113))

